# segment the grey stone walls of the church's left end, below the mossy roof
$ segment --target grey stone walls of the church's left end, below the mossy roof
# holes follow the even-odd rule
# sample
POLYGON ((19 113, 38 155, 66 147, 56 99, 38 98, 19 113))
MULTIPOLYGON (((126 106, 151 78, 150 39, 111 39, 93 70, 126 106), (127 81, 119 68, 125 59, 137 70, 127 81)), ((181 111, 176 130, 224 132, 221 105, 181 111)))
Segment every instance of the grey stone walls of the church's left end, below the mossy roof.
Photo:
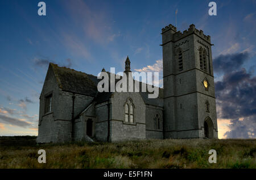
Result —
POLYGON ((71 120, 73 96, 75 96, 75 117, 92 102, 93 97, 73 94, 60 89, 50 65, 40 95, 39 130, 37 139, 39 143, 49 143, 51 141, 56 143, 72 140, 71 120), (45 114, 45 98, 50 94, 52 94, 52 111, 45 114))

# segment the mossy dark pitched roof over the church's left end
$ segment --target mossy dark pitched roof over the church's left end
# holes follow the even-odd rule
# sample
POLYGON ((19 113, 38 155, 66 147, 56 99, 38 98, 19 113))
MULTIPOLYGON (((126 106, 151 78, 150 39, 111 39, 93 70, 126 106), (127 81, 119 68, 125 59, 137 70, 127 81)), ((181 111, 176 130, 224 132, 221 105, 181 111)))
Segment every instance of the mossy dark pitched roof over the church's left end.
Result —
POLYGON ((59 87, 72 93, 96 96, 98 79, 96 76, 78 72, 74 69, 59 67, 50 63, 59 87))

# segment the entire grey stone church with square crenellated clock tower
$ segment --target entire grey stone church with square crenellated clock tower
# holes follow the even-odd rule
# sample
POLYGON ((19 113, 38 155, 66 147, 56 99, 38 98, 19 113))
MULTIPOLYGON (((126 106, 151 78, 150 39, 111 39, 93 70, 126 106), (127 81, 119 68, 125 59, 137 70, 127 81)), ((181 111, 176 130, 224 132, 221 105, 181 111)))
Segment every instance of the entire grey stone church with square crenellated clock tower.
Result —
MULTIPOLYGON (((212 45, 193 24, 183 32, 171 24, 162 28, 158 98, 142 91, 100 93, 101 79, 50 63, 37 142, 218 138, 212 45)), ((125 73, 130 64, 127 57, 125 73)))

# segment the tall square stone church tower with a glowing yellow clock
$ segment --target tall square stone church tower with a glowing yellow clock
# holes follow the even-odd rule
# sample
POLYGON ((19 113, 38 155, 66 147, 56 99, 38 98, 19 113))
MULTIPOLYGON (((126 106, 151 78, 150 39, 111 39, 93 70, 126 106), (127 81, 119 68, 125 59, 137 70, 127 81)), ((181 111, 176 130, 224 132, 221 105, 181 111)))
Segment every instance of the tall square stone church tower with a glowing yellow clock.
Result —
POLYGON ((162 28, 164 138, 217 138, 210 36, 162 28))

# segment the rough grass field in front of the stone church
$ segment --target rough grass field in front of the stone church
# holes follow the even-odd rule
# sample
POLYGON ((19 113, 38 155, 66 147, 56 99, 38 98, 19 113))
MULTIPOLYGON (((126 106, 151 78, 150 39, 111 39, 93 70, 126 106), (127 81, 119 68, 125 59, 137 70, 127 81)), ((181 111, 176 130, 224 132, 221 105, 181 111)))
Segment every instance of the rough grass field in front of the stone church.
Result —
POLYGON ((35 143, 0 137, 0 168, 256 168, 256 140, 141 140, 119 143, 35 143), (38 150, 46 150, 46 164, 38 150), (210 164, 210 149, 217 163, 210 164))

